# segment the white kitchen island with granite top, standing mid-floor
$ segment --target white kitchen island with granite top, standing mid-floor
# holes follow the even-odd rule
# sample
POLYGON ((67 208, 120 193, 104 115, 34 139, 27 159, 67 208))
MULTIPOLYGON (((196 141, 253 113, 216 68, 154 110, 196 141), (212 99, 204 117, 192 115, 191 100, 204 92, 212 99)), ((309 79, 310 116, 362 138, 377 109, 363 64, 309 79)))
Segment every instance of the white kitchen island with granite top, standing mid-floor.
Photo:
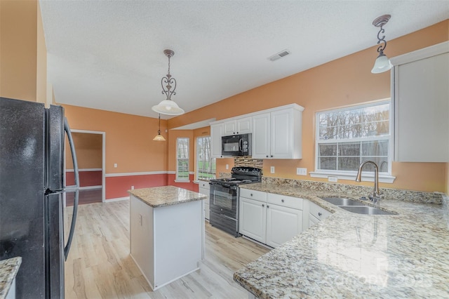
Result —
POLYGON ((199 269, 204 248, 203 199, 173 186, 128 190, 130 256, 155 291, 199 269))

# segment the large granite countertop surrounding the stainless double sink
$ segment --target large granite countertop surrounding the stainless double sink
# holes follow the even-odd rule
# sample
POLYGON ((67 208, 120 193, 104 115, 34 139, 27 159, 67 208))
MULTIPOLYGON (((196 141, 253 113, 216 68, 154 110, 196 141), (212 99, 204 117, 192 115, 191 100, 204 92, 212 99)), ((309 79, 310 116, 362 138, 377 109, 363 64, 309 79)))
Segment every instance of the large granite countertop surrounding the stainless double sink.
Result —
POLYGON ((260 298, 449 298, 449 229, 441 204, 384 199, 397 215, 360 215, 319 197, 358 199, 297 186, 242 188, 302 197, 325 220, 234 273, 260 298))

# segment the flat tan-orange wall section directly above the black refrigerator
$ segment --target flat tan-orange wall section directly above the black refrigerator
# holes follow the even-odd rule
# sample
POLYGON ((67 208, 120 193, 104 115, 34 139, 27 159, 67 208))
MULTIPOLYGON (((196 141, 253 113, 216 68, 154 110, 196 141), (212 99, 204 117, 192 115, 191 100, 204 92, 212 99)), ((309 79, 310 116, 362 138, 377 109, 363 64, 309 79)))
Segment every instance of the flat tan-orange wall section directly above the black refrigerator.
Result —
POLYGON ((36 101, 37 1, 0 1, 0 96, 36 101))

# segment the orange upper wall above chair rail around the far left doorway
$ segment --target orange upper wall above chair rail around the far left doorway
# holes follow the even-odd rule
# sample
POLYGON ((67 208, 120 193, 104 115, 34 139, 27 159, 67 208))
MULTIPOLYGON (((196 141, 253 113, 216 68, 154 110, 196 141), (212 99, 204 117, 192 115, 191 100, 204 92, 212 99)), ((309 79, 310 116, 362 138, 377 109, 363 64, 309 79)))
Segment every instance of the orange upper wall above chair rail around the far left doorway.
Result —
MULTIPOLYGON (((62 106, 72 129, 106 133, 107 174, 166 171, 167 142, 153 141, 158 130, 158 119, 62 106)), ((161 119, 161 131, 165 132, 165 129, 166 121, 161 119)))

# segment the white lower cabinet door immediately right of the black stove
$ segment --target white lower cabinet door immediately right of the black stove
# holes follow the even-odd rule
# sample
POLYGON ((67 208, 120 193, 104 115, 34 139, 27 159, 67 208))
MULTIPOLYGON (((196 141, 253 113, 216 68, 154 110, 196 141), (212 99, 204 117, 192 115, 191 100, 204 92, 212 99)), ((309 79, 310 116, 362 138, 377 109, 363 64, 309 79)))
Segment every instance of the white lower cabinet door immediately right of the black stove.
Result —
POLYGON ((261 243, 265 243, 266 205, 253 199, 240 198, 239 232, 261 243))

